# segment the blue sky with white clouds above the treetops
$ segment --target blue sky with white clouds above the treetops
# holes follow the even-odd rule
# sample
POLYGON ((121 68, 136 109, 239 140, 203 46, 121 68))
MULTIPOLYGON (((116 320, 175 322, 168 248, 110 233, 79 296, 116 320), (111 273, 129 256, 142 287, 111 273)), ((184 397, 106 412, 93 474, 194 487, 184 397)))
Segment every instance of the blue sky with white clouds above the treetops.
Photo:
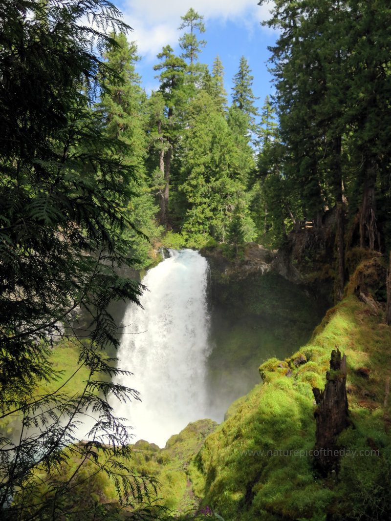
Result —
POLYGON ((213 60, 219 55, 225 71, 228 103, 231 103, 233 77, 238 72, 241 56, 245 56, 252 70, 252 90, 259 97, 256 104, 262 107, 265 97, 272 94, 272 76, 266 63, 270 56, 267 46, 274 44, 277 33, 261 26, 261 21, 269 17, 272 3, 263 6, 258 6, 257 0, 117 0, 115 3, 133 29, 128 39, 137 42, 142 56, 137 72, 148 94, 159 86, 152 68, 159 63, 156 54, 168 44, 175 54, 181 53, 178 39, 186 30, 178 31, 178 27, 180 17, 190 7, 204 17, 206 31, 198 33, 197 37, 207 43, 199 61, 212 70, 213 60))

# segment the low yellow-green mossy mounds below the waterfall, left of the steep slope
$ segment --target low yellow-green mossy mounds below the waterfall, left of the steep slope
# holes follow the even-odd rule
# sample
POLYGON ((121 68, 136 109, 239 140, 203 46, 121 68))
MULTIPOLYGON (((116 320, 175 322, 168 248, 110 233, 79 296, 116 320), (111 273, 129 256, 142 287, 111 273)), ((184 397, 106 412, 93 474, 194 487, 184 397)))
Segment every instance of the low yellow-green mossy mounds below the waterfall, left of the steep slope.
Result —
MULTIPOLYGON (((141 503, 130 496, 129 506, 121 506, 115 482, 104 472, 97 472, 99 465, 107 460, 107 455, 101 453, 96 462, 93 456, 88 457, 81 464, 82 444, 65 451, 67 461, 62 464, 57 477, 48 478, 42 468, 36 469, 36 475, 42 483, 36 503, 43 496, 53 495, 50 491, 54 483, 70 481, 71 497, 65 497, 63 501, 66 504, 62 507, 68 509, 69 519, 72 520, 97 520, 106 518, 108 513, 112 519, 122 519, 127 512, 133 516, 140 508, 142 510, 145 507, 160 516, 158 518, 193 516, 199 510, 205 486, 204 478, 194 460, 206 437, 217 426, 210 419, 198 420, 188 424, 178 435, 169 438, 164 449, 154 443, 139 440, 131 445, 131 460, 116 458, 126 465, 126 473, 120 470, 119 474, 135 476, 134 482, 138 481, 142 485, 141 503), (79 467, 77 475, 70 479, 79 467), (148 476, 155 480, 156 490, 146 478, 148 476), (106 510, 99 513, 96 511, 94 517, 97 505, 105 506, 106 510), (80 514, 83 512, 85 517, 80 514), (81 517, 78 517, 79 514, 81 517)), ((140 517, 136 517, 139 518, 143 519, 142 513, 140 517)))

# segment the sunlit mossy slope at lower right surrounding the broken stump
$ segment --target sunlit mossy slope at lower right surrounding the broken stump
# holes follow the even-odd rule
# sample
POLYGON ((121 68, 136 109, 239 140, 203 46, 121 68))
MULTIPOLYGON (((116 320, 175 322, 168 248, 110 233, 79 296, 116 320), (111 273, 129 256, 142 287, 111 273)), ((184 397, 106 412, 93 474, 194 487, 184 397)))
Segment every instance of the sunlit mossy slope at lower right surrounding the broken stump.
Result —
POLYGON ((197 457, 205 476, 204 504, 226 521, 388 519, 390 362, 391 331, 382 314, 348 295, 301 352, 260 367, 263 385, 206 439, 197 457), (310 455, 312 387, 324 387, 335 346, 347 355, 352 426, 339 437, 345 449, 339 472, 322 479, 310 455))

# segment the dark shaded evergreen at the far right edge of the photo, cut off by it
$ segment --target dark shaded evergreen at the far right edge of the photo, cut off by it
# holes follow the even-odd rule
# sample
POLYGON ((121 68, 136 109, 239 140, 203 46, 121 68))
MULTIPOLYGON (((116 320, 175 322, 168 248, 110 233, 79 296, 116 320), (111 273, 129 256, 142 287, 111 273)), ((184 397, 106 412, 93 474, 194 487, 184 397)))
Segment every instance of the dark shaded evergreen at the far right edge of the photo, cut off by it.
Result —
MULTIPOLYGON (((357 219, 361 247, 380 250, 388 237, 381 234, 380 221, 388 220, 390 126, 388 67, 390 9, 387 2, 350 0, 340 10, 349 13, 348 62, 349 155, 358 175, 349 201, 359 206, 357 219), (345 7, 345 8, 344 8, 345 7), (352 155, 351 155, 352 154, 352 155), (357 195, 359 199, 357 200, 357 195), (382 201, 382 204, 380 204, 382 201), (382 213, 379 219, 378 212, 382 213)), ((350 235, 356 231, 356 222, 350 235)))

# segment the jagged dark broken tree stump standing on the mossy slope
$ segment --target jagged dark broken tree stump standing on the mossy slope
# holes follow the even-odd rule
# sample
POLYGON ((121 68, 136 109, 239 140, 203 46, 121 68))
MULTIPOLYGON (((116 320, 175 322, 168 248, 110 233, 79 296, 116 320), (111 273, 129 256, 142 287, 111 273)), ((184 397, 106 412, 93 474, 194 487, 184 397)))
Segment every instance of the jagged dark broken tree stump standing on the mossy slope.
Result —
POLYGON ((338 467, 337 436, 349 425, 346 395, 346 355, 341 358, 339 349, 331 353, 330 370, 326 374, 324 391, 312 389, 317 408, 315 467, 323 475, 338 467))

